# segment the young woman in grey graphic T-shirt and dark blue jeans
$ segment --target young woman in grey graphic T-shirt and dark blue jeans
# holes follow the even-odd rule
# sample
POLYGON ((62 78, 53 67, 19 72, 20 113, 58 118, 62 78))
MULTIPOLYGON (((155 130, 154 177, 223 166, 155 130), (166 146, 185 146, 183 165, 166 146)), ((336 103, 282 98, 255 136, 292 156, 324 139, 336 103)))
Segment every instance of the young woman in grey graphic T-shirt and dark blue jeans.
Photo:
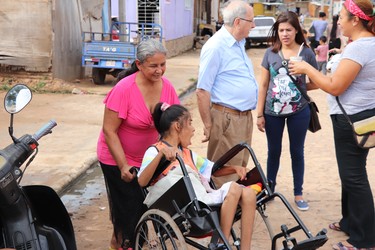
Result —
MULTIPOLYGON (((308 210, 303 198, 302 186, 305 169, 304 144, 310 121, 310 108, 299 89, 287 75, 287 64, 291 57, 301 56, 304 61, 317 68, 314 52, 306 45, 298 16, 292 11, 281 13, 272 26, 271 47, 262 61, 259 84, 257 126, 266 132, 268 144, 267 178, 276 185, 280 166, 282 137, 285 124, 288 127, 290 154, 294 183, 294 200, 297 208, 308 210)), ((313 89, 306 84, 305 75, 296 81, 303 89, 313 89)))

